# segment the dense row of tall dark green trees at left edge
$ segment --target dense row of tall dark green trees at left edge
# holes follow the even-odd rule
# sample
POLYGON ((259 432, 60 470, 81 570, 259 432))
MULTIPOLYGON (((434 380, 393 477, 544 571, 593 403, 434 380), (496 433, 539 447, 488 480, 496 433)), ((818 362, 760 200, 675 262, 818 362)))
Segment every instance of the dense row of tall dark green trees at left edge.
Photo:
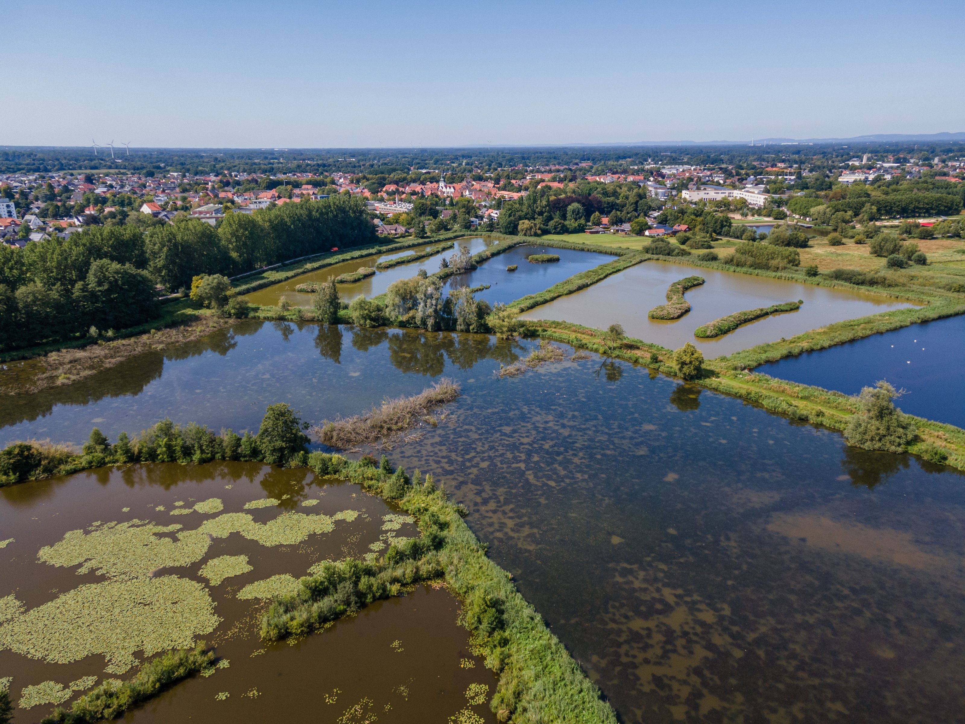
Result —
POLYGON ((161 290, 202 274, 264 265, 377 240, 365 204, 341 196, 253 214, 218 226, 196 219, 152 227, 91 227, 66 239, 0 246, 0 350, 96 335, 155 319, 161 290))

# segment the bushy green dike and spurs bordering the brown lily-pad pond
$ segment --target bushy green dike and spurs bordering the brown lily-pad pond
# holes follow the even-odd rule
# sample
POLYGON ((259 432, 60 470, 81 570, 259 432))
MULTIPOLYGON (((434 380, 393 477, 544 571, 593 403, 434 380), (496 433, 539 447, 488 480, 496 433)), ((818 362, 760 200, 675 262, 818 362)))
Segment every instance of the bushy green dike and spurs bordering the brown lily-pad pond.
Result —
MULTIPOLYGON (((14 444, 0 452, 0 476, 17 483, 111 464, 229 459, 307 467, 320 476, 347 479, 412 515, 420 537, 393 543, 380 558, 328 563, 317 574, 301 578, 297 592, 274 599, 264 613, 262 638, 302 636, 373 600, 399 596, 420 581, 444 579, 462 601, 460 622, 482 650, 485 665, 499 675, 490 702, 499 721, 617 723, 599 689, 520 596, 509 573, 486 557, 485 547, 462 519, 465 508, 451 502, 431 475, 424 478, 417 470, 410 476, 385 458, 350 461, 310 453, 303 432, 307 427, 287 404, 273 404, 259 432, 243 437, 193 424, 181 428, 170 420, 133 439, 119 435, 113 444, 94 430, 79 455, 49 443, 14 444)), ((120 716, 164 687, 207 670, 212 662, 204 645, 164 654, 146 662, 132 679, 104 682, 69 710, 54 710, 43 721, 73 724, 120 716)), ((2 707, 0 700, 0 713, 2 707)))

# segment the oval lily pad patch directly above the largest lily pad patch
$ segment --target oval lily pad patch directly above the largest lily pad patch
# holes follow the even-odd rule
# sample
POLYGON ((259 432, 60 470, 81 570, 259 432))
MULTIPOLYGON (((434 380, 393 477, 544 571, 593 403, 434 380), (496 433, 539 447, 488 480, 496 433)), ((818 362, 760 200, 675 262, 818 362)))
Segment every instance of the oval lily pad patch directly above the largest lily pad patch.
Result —
POLYGON ((190 566, 205 557, 210 541, 192 531, 178 540, 158 534, 173 533, 181 526, 155 525, 146 520, 103 523, 88 531, 72 530, 59 543, 45 545, 37 557, 51 566, 80 566, 78 575, 95 571, 112 578, 136 578, 152 571, 190 566))

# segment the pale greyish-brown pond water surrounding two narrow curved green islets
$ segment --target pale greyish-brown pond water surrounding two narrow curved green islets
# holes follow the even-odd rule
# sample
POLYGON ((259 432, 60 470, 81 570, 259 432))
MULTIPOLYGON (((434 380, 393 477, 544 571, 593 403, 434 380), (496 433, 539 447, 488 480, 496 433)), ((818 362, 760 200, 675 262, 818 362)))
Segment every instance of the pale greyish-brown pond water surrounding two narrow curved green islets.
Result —
POLYGON ((845 292, 695 266, 648 261, 631 266, 574 294, 561 296, 523 315, 530 320, 565 320, 606 329, 620 323, 627 335, 644 342, 676 349, 687 342, 705 357, 731 354, 765 342, 806 332, 836 321, 912 306, 892 297, 845 292), (647 313, 666 303, 667 287, 677 279, 703 276, 706 282, 688 290, 684 298, 691 311, 679 320, 650 320, 647 313), (796 312, 772 315, 738 327, 714 339, 698 339, 694 330, 735 312, 803 299, 796 312))

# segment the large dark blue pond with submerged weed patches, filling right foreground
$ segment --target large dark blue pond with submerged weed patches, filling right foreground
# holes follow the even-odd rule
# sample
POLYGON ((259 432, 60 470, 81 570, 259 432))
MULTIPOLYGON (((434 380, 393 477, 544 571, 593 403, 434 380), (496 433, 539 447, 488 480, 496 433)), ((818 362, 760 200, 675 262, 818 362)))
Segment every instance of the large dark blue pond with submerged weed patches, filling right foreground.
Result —
MULTIPOLYGON (((448 416, 388 455, 431 472, 466 505, 490 555, 623 721, 960 716, 965 480, 951 468, 851 449, 836 432, 595 355, 516 378, 493 374, 529 342, 349 328, 329 336, 267 323, 246 331, 220 354, 163 362, 138 397, 55 405, 20 423, 20 436, 56 422, 49 436, 80 440, 104 414, 101 428, 133 431, 127 407, 127 419, 144 424, 170 410, 182 422, 240 429, 257 425, 265 404, 289 402, 317 420, 452 376, 463 395, 448 416), (149 404, 152 386, 158 399, 149 404)), ((27 488, 3 494, 18 489, 27 488)), ((185 494, 154 495, 142 507, 170 510, 185 494)), ((122 519, 78 515, 44 535, 56 542, 91 518, 122 519)), ((46 518, 18 510, 15 520, 46 518)), ((61 586, 37 586, 53 588, 61 586)))

